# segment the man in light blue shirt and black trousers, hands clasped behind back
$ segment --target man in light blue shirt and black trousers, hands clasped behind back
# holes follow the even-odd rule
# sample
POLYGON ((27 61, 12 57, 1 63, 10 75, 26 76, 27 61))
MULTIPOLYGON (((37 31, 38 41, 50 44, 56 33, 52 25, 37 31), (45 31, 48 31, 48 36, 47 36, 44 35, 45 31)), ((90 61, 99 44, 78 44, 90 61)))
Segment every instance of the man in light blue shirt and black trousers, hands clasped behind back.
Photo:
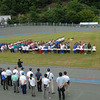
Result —
POLYGON ((62 72, 59 72, 59 77, 56 79, 57 85, 58 85, 58 94, 59 94, 59 100, 61 100, 61 92, 62 92, 62 98, 65 100, 65 78, 62 77, 62 72))

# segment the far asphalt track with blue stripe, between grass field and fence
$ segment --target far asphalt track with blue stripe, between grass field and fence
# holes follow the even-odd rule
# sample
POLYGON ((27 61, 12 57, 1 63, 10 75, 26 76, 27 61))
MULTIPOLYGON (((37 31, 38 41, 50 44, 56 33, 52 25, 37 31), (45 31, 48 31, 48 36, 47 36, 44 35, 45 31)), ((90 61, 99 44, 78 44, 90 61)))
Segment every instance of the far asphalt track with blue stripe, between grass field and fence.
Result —
POLYGON ((57 32, 78 32, 78 31, 99 31, 100 27, 66 27, 66 26, 16 26, 0 28, 0 38, 44 34, 44 33, 57 33, 57 32))

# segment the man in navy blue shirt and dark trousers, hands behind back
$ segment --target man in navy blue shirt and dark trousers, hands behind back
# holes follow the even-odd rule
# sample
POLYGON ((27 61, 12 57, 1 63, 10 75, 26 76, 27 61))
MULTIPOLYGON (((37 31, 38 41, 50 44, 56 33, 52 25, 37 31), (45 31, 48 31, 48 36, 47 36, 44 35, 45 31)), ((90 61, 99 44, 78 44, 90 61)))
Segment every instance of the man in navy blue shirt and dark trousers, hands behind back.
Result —
POLYGON ((38 92, 42 92, 42 74, 40 73, 40 69, 37 69, 37 73, 35 74, 35 78, 37 81, 37 89, 38 92))

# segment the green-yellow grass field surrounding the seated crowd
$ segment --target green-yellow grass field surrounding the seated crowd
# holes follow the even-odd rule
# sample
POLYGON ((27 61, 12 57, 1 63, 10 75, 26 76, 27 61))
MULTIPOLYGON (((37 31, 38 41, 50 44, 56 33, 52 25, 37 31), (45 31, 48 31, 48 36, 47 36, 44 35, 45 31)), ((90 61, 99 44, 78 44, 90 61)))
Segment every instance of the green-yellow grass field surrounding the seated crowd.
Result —
POLYGON ((100 31, 89 32, 64 32, 64 33, 51 33, 51 34, 35 34, 26 36, 15 36, 8 38, 0 38, 0 43, 7 42, 13 43, 18 40, 33 41, 49 41, 65 36, 66 41, 68 38, 74 38, 70 42, 71 48, 76 41, 90 42, 91 45, 96 45, 96 55, 84 55, 84 54, 20 54, 19 52, 11 54, 9 51, 0 53, 0 62, 16 63, 20 58, 24 64, 34 65, 50 65, 50 66, 66 66, 66 67, 82 67, 82 68, 100 68, 100 31))

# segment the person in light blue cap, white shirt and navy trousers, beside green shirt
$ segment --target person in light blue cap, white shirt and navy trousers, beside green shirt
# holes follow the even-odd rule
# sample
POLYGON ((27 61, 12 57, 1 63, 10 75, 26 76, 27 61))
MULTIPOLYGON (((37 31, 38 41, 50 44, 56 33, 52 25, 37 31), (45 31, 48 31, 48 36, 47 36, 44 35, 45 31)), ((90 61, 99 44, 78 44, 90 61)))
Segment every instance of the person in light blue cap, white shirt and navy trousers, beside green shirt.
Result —
POLYGON ((22 72, 22 75, 20 76, 20 84, 22 87, 22 93, 26 94, 26 76, 24 72, 22 72))

